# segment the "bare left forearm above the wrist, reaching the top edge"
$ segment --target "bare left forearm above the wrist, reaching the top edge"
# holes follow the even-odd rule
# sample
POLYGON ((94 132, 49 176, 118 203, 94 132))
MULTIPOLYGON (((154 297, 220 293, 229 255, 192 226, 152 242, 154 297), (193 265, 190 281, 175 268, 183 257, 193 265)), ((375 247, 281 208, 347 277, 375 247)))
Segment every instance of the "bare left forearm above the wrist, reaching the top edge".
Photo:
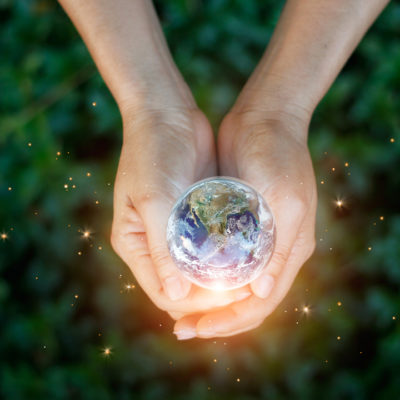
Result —
POLYGON ((120 108, 194 106, 150 0, 59 0, 120 108))

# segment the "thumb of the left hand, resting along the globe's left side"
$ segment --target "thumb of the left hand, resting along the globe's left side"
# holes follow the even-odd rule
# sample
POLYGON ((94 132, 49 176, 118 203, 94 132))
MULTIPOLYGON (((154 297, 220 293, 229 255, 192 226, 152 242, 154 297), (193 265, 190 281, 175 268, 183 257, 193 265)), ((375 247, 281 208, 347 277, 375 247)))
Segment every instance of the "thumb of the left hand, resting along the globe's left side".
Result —
POLYGON ((167 246, 166 229, 174 204, 171 194, 147 194, 135 205, 143 219, 152 261, 164 292, 171 300, 185 298, 191 289, 188 281, 171 258, 167 246))

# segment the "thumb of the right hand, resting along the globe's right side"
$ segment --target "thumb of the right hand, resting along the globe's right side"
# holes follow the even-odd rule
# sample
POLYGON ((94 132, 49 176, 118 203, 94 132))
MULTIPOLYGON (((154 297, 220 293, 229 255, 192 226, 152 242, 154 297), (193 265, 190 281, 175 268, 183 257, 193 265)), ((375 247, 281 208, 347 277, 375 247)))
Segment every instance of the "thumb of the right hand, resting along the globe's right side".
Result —
POLYGON ((278 275, 286 265, 306 214, 303 201, 293 195, 271 201, 269 205, 275 217, 275 248, 267 267, 250 283, 254 294, 262 299, 269 296, 278 275))

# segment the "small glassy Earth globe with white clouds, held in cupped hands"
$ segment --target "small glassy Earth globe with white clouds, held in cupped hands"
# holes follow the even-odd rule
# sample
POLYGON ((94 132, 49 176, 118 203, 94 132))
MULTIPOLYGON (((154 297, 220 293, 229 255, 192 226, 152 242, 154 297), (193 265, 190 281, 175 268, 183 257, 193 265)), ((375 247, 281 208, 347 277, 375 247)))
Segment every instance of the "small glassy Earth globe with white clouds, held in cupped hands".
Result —
POLYGON ((245 182, 207 178, 177 200, 168 219, 167 243, 190 281, 207 289, 235 289, 266 267, 275 245, 274 217, 245 182))

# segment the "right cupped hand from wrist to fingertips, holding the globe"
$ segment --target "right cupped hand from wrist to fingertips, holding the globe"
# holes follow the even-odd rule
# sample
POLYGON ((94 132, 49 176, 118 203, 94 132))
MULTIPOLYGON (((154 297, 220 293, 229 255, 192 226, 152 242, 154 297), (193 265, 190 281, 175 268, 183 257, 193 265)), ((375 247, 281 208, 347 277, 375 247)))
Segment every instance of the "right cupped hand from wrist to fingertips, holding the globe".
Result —
POLYGON ((317 192, 307 148, 308 123, 290 114, 231 112, 218 137, 220 174, 243 179, 268 202, 276 222, 275 250, 250 284, 253 295, 222 310, 185 316, 175 330, 231 336, 259 326, 288 292, 315 248, 317 192))

